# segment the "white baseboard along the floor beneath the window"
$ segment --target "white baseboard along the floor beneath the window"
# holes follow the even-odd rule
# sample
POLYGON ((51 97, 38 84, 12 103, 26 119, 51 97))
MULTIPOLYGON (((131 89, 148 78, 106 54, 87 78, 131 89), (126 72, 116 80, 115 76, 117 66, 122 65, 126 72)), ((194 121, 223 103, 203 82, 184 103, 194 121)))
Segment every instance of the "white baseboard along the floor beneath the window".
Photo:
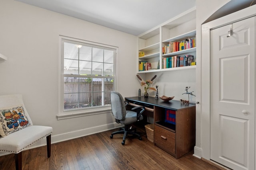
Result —
MULTIPOLYGON (((92 135, 95 133, 104 132, 104 131, 108 131, 111 129, 116 129, 118 127, 122 127, 122 125, 114 122, 114 123, 90 127, 90 128, 86 128, 86 129, 80 129, 78 131, 71 131, 71 132, 62 133, 62 134, 58 134, 58 135, 52 135, 51 143, 53 144, 53 143, 59 143, 62 141, 68 141, 70 139, 75 139, 78 137, 83 137, 83 136, 88 136, 88 135, 92 135)), ((28 147, 26 150, 37 148, 37 147, 42 147, 42 146, 46 146, 46 138, 41 139, 40 141, 36 142, 34 145, 28 147)), ((0 156, 4 156, 6 154, 10 154, 10 153, 9 152, 0 152, 0 156)))

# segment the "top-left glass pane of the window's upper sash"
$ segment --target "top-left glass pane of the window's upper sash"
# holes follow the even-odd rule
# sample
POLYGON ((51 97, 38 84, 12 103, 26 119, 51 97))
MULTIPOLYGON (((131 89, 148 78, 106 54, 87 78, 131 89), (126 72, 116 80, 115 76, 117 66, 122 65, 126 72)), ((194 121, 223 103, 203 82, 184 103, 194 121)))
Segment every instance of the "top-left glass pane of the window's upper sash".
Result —
POLYGON ((78 45, 64 42, 64 59, 78 60, 78 45))

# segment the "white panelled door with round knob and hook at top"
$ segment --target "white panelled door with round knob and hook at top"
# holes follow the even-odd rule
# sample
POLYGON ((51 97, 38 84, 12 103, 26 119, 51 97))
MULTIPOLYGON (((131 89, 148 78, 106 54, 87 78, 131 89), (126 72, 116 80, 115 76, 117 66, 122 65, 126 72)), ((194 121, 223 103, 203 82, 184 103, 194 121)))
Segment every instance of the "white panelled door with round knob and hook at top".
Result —
POLYGON ((255 17, 232 27, 230 37, 230 25, 210 31, 210 159, 235 170, 253 170, 255 17))

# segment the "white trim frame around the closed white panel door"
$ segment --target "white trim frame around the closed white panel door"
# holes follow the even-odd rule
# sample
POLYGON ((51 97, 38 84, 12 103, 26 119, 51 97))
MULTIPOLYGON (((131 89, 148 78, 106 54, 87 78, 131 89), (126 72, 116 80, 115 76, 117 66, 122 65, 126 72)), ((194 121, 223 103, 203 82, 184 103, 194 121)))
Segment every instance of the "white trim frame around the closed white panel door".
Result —
MULTIPOLYGON (((256 5, 202 24, 201 32, 201 148, 210 160, 210 30, 256 16, 256 5)), ((228 31, 227 31, 228 34, 228 31)), ((255 147, 256 148, 256 147, 255 147)), ((254 154, 255 158, 255 154, 254 154)))

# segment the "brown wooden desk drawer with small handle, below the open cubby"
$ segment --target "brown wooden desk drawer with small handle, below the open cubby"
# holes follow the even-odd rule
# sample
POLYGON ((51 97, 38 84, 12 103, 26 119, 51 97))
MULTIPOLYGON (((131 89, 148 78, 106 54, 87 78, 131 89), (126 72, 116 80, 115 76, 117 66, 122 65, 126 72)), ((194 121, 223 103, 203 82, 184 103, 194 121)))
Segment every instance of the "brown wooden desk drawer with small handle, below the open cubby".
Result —
POLYGON ((175 133, 158 125, 154 126, 154 143, 166 152, 175 155, 175 133))

